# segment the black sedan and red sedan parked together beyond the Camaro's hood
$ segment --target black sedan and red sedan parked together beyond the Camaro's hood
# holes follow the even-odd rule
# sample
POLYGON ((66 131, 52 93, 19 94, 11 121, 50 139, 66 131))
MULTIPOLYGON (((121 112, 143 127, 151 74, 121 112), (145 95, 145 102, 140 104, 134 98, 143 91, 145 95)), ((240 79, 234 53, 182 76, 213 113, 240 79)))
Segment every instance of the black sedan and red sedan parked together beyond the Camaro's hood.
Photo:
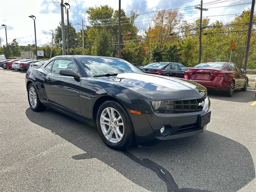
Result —
POLYGON ((151 63, 141 68, 145 73, 185 78, 197 82, 208 90, 220 90, 232 96, 234 90, 246 91, 248 77, 232 62, 200 63, 191 69, 176 62, 151 63))

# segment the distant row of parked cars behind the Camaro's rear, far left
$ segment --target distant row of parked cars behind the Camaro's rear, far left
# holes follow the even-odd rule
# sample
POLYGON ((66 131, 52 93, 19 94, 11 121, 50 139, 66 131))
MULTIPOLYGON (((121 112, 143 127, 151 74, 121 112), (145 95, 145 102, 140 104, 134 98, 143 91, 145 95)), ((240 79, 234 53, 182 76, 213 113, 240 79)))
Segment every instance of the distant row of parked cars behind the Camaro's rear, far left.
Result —
POLYGON ((34 59, 7 59, 0 61, 0 67, 10 70, 26 71, 28 68, 40 68, 46 61, 34 59))

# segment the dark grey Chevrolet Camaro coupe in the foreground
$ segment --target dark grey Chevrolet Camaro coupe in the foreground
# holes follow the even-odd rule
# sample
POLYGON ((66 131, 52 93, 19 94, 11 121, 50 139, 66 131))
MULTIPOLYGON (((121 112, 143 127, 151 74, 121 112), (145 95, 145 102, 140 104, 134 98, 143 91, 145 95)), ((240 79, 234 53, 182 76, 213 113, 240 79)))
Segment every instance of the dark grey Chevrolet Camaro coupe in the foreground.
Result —
POLYGON ((96 126, 122 150, 204 132, 210 100, 200 84, 146 74, 119 58, 56 56, 26 72, 28 102, 96 126))

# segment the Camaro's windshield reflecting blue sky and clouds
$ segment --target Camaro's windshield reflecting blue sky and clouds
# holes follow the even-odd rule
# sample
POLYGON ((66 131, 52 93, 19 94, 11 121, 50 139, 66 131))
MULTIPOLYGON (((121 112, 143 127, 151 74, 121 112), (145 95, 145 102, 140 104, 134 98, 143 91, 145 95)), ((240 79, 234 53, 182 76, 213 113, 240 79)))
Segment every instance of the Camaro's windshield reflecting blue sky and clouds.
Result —
POLYGON ((119 73, 143 73, 129 62, 118 58, 82 57, 82 66, 92 76, 119 73))

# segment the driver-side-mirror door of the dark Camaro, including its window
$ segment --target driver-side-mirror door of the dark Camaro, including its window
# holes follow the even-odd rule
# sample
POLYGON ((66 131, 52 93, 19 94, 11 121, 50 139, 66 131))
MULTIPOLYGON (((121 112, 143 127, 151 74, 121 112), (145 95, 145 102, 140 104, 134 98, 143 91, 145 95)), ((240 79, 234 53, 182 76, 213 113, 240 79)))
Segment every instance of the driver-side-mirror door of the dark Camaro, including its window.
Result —
MULTIPOLYGON (((46 66, 47 68, 47 66, 46 66)), ((51 106, 80 114, 80 78, 62 76, 59 74, 62 69, 72 69, 80 76, 75 62, 68 59, 54 60, 50 72, 47 74, 44 86, 51 106)))

